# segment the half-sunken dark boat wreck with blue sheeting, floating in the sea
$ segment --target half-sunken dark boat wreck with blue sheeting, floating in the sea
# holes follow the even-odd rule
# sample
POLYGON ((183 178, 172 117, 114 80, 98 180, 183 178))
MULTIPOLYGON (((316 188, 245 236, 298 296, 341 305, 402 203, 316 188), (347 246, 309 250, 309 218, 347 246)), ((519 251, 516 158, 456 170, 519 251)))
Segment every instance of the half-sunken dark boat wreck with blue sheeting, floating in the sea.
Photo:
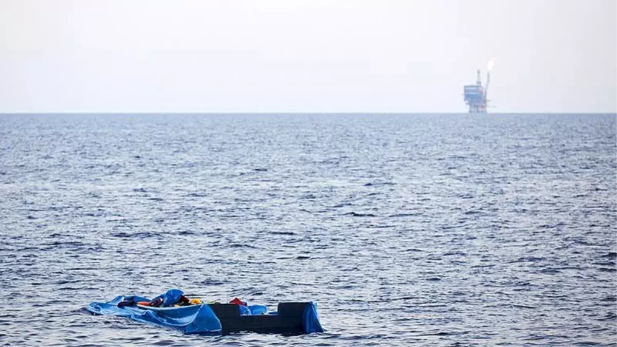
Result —
POLYGON ((172 327, 186 334, 323 332, 315 301, 278 303, 277 311, 268 312, 266 306, 247 305, 239 300, 228 304, 181 303, 183 306, 178 306, 181 295, 181 290, 172 289, 154 299, 136 295, 117 296, 104 303, 90 303, 86 309, 93 314, 120 316, 172 327), (150 306, 153 302, 160 306, 150 306))

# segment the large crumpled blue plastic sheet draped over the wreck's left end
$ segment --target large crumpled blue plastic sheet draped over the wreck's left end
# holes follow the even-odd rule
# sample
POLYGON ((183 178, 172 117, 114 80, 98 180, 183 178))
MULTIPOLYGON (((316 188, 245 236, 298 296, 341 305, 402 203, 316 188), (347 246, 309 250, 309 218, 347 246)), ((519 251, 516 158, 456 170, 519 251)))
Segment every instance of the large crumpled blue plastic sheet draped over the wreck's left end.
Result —
MULTIPOLYGON (((183 333, 220 335, 221 322, 208 305, 182 306, 175 309, 152 311, 135 306, 118 307, 125 296, 117 296, 107 303, 90 303, 86 309, 93 314, 120 316, 144 323, 159 324, 181 330, 183 333)), ((141 296, 133 296, 135 301, 150 301, 141 296)))

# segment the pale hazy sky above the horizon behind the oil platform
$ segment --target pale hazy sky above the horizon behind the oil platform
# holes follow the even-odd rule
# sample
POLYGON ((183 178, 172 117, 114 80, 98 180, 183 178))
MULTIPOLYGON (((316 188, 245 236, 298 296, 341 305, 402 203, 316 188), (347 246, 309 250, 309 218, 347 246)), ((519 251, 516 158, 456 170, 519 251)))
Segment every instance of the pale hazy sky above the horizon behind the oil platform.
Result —
POLYGON ((617 112, 617 0, 0 0, 0 112, 617 112))

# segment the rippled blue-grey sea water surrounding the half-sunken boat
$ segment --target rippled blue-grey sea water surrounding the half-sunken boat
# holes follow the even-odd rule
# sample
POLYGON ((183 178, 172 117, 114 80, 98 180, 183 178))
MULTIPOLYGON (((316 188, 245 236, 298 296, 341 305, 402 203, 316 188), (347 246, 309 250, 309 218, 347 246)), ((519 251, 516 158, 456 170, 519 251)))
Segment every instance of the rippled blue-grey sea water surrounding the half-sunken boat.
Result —
POLYGON ((617 342, 617 115, 2 115, 0 345, 617 342), (324 333, 84 307, 181 288, 324 333))

